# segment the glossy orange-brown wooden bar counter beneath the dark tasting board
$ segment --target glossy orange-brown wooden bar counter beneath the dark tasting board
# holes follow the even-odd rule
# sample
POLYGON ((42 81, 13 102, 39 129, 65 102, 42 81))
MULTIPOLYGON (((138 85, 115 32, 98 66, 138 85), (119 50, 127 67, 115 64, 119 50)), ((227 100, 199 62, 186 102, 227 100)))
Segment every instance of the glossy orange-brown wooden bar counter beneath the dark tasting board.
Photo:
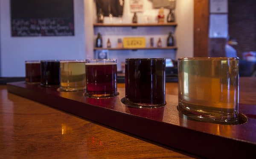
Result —
MULTIPOLYGON (((125 84, 118 84, 118 88, 124 87, 125 84)), ((256 104, 256 78, 241 77, 239 89, 239 103, 256 104)), ((166 94, 178 94, 176 82, 166 83, 166 94)), ((236 155, 239 152, 232 153, 236 155)), ((112 159, 200 156, 20 97, 9 93, 6 85, 0 85, 0 158, 112 159)))

